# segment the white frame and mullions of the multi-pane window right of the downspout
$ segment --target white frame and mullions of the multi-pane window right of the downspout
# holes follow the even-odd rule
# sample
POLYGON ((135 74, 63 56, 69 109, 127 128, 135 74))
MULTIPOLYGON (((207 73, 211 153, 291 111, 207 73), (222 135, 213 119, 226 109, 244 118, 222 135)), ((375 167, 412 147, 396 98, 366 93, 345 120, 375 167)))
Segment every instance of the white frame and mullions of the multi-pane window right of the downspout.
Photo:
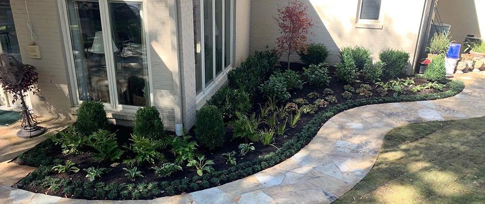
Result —
POLYGON ((219 84, 222 79, 225 77, 225 75, 227 74, 228 71, 230 71, 232 69, 232 65, 234 64, 234 59, 233 59, 233 49, 234 49, 234 44, 233 44, 233 38, 234 38, 234 18, 233 18, 233 15, 234 15, 234 0, 231 0, 231 5, 229 5, 231 7, 231 13, 230 13, 230 23, 231 23, 231 38, 230 38, 230 47, 231 47, 231 50, 230 50, 230 63, 228 66, 224 66, 224 59, 225 59, 225 52, 226 52, 226 46, 225 46, 225 42, 226 42, 226 26, 225 26, 225 20, 227 20, 226 18, 226 1, 224 0, 212 0, 212 42, 214 42, 214 45, 215 45, 215 1, 222 1, 222 15, 223 15, 223 19, 224 19, 224 23, 223 23, 223 26, 222 26, 222 39, 223 39, 223 46, 222 46, 222 71, 221 73, 219 74, 216 74, 216 71, 215 71, 215 65, 216 65, 216 60, 215 60, 215 46, 212 46, 212 61, 213 61, 213 67, 212 67, 212 82, 209 83, 208 85, 206 85, 205 83, 205 59, 204 59, 204 56, 205 56, 205 48, 204 48, 204 1, 203 0, 200 0, 200 12, 201 12, 201 15, 200 15, 200 23, 201 23, 201 27, 200 27, 200 30, 198 31, 200 36, 201 36, 201 60, 200 60, 200 63, 201 63, 201 72, 202 72, 202 90, 199 94, 197 94, 197 97, 196 97, 196 102, 197 104, 199 104, 203 99, 204 97, 209 94, 212 89, 215 87, 216 84, 219 84))

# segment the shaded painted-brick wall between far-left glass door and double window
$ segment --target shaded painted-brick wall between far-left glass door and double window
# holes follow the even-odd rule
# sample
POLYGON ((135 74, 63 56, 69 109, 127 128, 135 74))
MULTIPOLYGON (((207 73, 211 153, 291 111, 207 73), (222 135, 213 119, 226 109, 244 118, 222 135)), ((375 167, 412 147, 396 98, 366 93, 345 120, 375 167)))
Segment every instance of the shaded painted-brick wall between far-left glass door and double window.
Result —
POLYGON ((36 66, 39 73, 40 92, 38 95, 30 94, 30 102, 35 114, 70 118, 71 100, 57 1, 28 1, 30 19, 37 36, 36 44, 40 45, 42 59, 30 59, 27 54, 27 45, 30 45, 32 40, 26 24, 25 2, 10 0, 10 5, 22 61, 36 66), (39 96, 45 97, 45 101, 41 101, 39 96))

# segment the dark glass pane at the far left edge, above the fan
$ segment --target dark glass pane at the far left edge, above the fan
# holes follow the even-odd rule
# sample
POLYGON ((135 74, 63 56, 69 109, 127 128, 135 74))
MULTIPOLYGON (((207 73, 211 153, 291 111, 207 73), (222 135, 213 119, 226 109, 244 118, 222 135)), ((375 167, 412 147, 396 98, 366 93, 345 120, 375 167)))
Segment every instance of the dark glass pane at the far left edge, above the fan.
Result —
POLYGON ((22 62, 10 1, 0 1, 0 44, 3 52, 22 62))

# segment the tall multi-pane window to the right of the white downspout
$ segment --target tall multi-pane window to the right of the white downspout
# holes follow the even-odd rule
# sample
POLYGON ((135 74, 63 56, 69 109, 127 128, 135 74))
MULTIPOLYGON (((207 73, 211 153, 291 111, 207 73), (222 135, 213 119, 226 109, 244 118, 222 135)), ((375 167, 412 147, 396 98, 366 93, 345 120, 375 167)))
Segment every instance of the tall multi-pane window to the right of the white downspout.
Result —
POLYGON ((231 66, 233 0, 193 0, 196 91, 207 93, 231 66))

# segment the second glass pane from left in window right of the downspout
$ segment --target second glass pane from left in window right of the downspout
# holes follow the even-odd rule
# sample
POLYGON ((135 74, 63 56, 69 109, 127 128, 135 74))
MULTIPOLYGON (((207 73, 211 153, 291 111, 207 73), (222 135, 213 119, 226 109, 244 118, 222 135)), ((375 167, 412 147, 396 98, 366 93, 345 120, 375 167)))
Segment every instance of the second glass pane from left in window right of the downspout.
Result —
POLYGON ((212 0, 204 0, 204 61, 205 61, 205 85, 208 86, 213 81, 213 32, 212 32, 212 0))

